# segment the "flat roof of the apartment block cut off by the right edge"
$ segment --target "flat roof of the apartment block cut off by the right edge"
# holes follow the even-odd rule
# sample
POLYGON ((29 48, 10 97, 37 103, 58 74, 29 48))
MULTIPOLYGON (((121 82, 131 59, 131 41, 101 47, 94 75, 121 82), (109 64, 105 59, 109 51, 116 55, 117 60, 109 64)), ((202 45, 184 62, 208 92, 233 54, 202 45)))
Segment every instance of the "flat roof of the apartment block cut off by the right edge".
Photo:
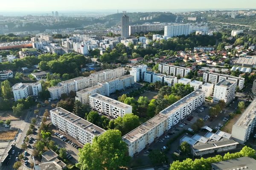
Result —
POLYGON ((255 116, 256 116, 256 99, 254 99, 250 103, 250 105, 246 108, 244 113, 236 121, 234 126, 239 126, 241 128, 247 129, 247 127, 251 124, 255 116))

